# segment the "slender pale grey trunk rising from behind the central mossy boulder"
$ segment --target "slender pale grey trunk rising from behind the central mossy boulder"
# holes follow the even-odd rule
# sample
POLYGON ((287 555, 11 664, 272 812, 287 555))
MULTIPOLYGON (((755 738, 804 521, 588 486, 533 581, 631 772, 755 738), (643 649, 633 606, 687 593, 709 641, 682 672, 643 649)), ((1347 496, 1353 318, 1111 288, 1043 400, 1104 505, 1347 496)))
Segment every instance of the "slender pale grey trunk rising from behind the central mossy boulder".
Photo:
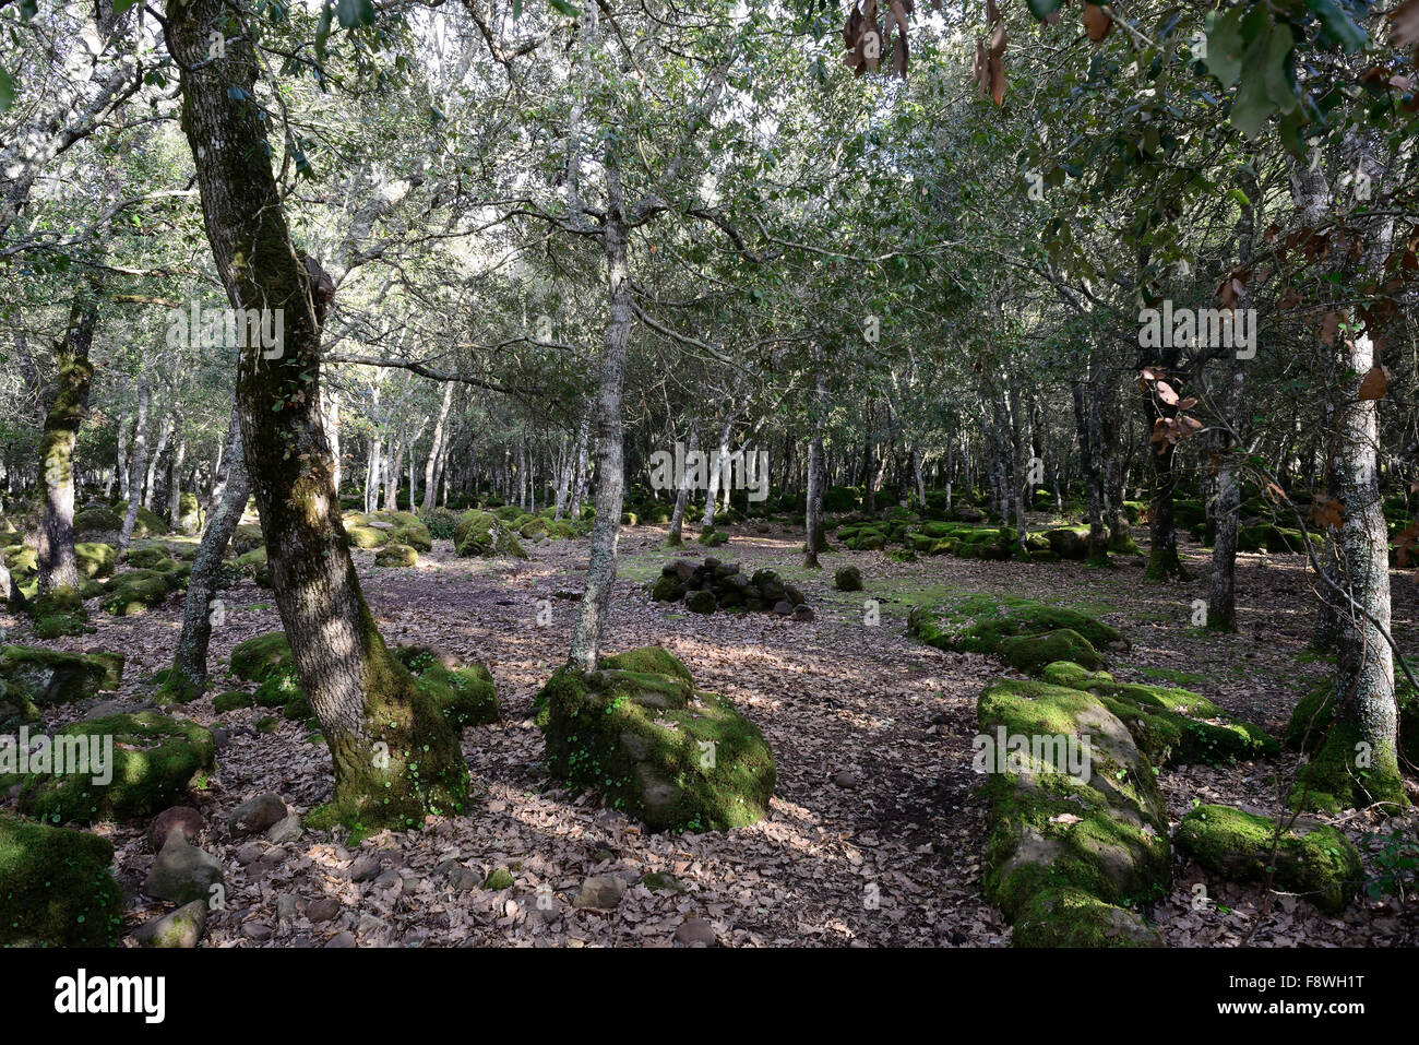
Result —
POLYGON ((630 264, 627 261, 626 214, 620 189, 620 168, 606 162, 606 224, 602 248, 610 311, 602 349, 600 388, 596 393, 596 524, 592 528, 590 567, 580 612, 572 630, 570 663, 583 672, 596 667, 606 612, 616 585, 616 544, 620 537, 622 494, 626 484, 622 446, 622 386, 626 381, 626 342, 630 341, 630 264))

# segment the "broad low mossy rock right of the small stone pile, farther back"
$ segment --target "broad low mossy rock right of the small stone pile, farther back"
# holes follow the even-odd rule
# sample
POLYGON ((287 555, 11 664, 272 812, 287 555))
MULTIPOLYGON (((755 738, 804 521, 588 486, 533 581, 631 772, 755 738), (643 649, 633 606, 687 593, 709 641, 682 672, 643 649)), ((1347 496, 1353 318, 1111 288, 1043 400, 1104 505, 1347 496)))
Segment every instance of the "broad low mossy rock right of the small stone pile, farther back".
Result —
POLYGON ((1128 649, 1122 635, 1088 613, 1013 595, 949 595, 917 606, 907 620, 908 633, 927 645, 968 653, 999 653, 1006 638, 1060 629, 1076 632, 1095 650, 1128 649))

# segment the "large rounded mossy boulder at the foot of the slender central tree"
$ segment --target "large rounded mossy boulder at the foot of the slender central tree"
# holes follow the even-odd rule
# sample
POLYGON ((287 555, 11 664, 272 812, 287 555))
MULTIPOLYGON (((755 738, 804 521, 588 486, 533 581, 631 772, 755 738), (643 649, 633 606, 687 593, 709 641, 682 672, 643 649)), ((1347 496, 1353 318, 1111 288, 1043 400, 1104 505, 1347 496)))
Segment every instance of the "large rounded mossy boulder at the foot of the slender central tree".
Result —
POLYGON ((776 781, 763 734, 688 679, 674 655, 656 649, 553 674, 536 699, 552 777, 596 788, 654 831, 722 831, 762 818, 776 781))

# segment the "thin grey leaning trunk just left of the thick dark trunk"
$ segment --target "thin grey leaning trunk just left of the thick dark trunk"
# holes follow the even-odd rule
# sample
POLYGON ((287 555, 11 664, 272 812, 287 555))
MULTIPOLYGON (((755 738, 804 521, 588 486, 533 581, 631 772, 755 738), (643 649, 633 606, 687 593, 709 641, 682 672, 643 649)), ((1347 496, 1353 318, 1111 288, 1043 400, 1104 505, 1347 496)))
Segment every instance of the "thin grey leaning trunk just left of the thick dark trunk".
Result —
POLYGON ((177 652, 173 655, 173 669, 163 683, 169 699, 180 703, 194 700, 207 689, 207 646, 211 629, 226 619, 226 606, 217 602, 217 581, 227 544, 241 522, 241 513, 251 494, 251 480, 241 446, 241 415, 231 407, 231 422, 227 429, 227 443, 223 450, 227 471, 219 480, 221 500, 213 513, 207 531, 197 545, 197 558, 192 564, 192 578, 187 582, 187 601, 183 605, 182 635, 177 636, 177 652))

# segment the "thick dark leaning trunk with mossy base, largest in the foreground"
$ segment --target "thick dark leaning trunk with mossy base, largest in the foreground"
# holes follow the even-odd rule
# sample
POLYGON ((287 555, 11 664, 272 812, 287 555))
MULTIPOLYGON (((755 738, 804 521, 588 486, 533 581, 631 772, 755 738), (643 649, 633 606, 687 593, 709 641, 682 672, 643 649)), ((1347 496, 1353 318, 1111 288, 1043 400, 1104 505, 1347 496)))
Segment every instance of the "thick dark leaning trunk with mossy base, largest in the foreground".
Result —
POLYGON ((280 355, 238 359, 237 410, 281 623, 333 760, 335 801, 312 818, 419 826, 426 814, 463 808, 468 771, 458 734, 385 647, 360 593, 321 423, 321 325, 335 285, 291 243, 253 101, 250 37, 209 54, 228 20, 224 0, 169 0, 165 31, 227 297, 236 308, 284 310, 280 355))

